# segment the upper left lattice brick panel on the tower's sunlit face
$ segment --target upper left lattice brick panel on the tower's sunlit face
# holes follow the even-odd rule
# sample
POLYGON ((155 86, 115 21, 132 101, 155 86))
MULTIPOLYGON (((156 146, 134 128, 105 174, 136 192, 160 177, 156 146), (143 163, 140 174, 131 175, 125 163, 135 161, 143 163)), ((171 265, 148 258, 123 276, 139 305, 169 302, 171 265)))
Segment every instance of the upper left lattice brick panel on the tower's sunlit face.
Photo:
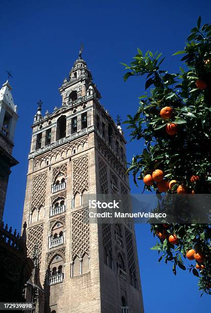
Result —
POLYGON ((33 177, 31 211, 45 205, 47 172, 33 177))

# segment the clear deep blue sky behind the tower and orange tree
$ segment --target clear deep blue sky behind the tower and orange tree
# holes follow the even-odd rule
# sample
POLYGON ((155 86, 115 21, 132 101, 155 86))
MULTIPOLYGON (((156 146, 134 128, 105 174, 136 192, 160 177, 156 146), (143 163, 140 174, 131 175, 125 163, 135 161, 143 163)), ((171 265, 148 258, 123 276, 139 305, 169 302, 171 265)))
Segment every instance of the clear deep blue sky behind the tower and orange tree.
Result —
MULTIPOLYGON (((58 88, 78 56, 81 41, 83 57, 102 94, 101 103, 115 117, 125 120, 138 106, 144 92, 144 80, 133 78, 124 83, 124 68, 136 48, 161 51, 163 66, 177 72, 179 57, 189 30, 198 15, 210 23, 208 1, 1 1, 0 11, 0 82, 11 80, 19 120, 15 134, 14 157, 20 162, 12 169, 4 220, 19 229, 24 205, 30 125, 36 102, 42 99, 43 111, 61 105, 58 88)), ((128 132, 125 131, 128 139, 128 132)), ((127 157, 142 149, 142 143, 127 145, 127 157)), ((131 183, 132 192, 138 189, 131 183)), ((157 252, 150 251, 156 239, 149 226, 137 225, 137 248, 146 313, 210 312, 210 296, 200 298, 197 278, 171 265, 157 263, 157 252)))

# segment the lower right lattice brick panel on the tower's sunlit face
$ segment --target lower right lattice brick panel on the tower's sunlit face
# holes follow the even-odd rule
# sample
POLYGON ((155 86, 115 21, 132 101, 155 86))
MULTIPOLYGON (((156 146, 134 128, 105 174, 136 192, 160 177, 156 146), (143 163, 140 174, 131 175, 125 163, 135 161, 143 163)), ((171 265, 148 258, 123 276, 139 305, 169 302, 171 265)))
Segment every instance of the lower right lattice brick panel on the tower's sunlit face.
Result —
POLYGON ((88 208, 72 213, 72 259, 89 255, 88 208))

